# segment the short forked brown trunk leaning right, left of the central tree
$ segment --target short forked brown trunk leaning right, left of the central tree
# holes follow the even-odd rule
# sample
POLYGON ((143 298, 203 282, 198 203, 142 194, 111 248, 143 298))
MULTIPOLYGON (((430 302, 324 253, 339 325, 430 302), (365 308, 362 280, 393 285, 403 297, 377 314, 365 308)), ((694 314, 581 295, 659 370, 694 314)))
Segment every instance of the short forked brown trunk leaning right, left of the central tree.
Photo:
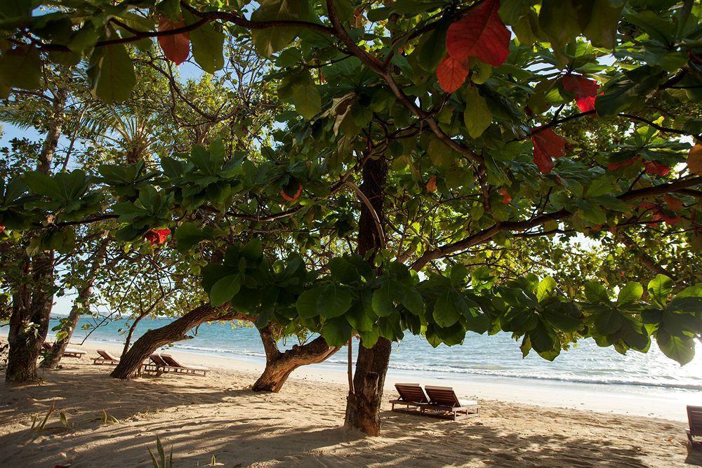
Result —
POLYGON ((289 375, 300 366, 314 364, 329 359, 340 347, 330 347, 324 337, 319 336, 305 345, 295 345, 292 349, 280 352, 276 343, 279 330, 268 325, 258 330, 265 349, 265 369, 253 384, 254 392, 280 392, 289 375))

